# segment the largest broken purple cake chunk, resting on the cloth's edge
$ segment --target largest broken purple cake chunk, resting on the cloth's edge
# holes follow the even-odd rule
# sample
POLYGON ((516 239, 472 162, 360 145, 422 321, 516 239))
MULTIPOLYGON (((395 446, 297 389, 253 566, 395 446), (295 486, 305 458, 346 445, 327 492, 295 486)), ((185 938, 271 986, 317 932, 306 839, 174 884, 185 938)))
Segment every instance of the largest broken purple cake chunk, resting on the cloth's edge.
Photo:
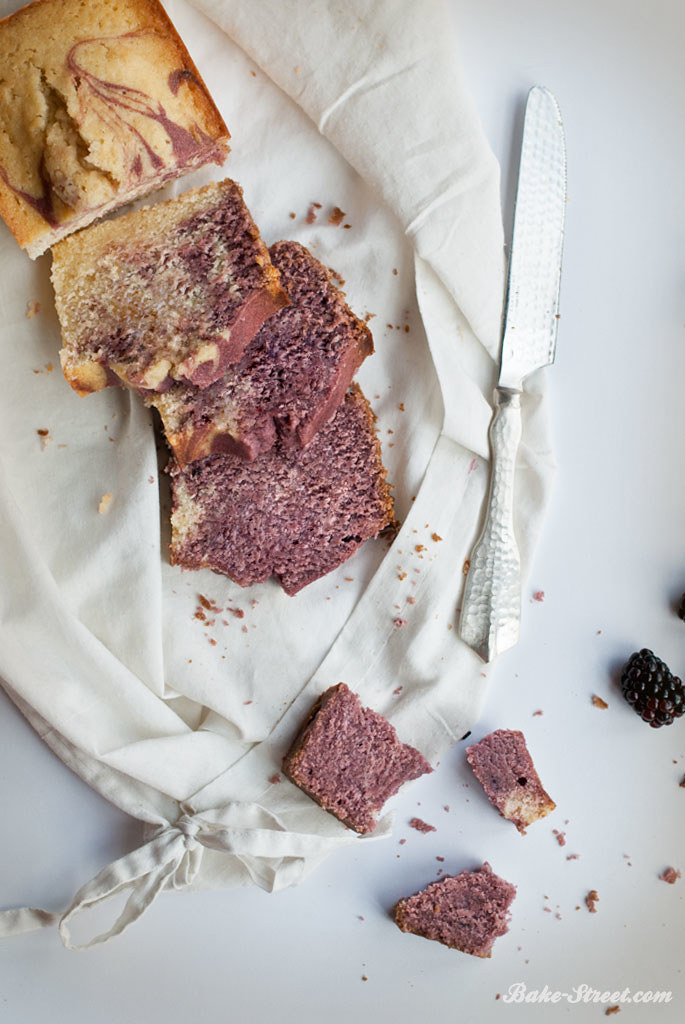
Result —
POLYGON ((374 830, 378 813, 400 785, 432 768, 397 738, 386 718, 338 683, 312 708, 283 770, 324 810, 363 835, 374 830))

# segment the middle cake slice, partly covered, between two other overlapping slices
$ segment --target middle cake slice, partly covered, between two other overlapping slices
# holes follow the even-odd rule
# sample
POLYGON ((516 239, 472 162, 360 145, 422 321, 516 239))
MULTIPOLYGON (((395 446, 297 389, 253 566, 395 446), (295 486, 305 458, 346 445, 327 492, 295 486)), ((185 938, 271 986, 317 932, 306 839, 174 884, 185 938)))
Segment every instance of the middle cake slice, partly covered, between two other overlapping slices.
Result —
POLYGON ((202 391, 174 383, 148 396, 183 467, 217 453, 255 459, 276 438, 307 444, 374 349, 331 271, 296 242, 269 249, 291 305, 262 326, 239 364, 202 391))

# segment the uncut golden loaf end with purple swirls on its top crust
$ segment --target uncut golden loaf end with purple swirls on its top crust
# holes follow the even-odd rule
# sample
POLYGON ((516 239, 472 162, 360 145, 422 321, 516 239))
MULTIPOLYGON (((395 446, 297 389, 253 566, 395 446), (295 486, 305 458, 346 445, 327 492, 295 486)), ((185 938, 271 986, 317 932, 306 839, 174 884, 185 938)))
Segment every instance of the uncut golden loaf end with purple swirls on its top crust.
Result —
POLYGON ((35 0, 0 20, 0 215, 32 259, 222 164, 228 138, 158 0, 35 0))

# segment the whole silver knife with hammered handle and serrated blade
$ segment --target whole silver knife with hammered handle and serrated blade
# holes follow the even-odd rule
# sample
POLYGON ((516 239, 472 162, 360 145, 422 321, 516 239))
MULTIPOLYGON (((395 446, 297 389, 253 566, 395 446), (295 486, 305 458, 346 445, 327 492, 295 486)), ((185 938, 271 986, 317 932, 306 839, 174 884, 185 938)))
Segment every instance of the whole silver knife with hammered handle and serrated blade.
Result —
POLYGON ((528 93, 509 260, 500 378, 489 428, 485 525, 469 562, 462 639, 484 662, 513 646, 521 618, 514 476, 525 378, 554 361, 566 207, 566 148, 559 106, 536 85, 528 93))

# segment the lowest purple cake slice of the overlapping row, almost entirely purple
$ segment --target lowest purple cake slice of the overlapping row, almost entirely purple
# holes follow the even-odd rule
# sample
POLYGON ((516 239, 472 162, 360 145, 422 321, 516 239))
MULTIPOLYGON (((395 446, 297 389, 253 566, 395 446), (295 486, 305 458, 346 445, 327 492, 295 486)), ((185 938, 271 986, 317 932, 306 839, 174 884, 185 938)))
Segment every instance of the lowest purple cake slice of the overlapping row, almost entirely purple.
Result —
POLYGON ((242 587, 271 575, 288 594, 341 565, 394 522, 374 414, 352 385, 306 447, 275 444, 254 462, 212 455, 169 468, 171 562, 242 587))

